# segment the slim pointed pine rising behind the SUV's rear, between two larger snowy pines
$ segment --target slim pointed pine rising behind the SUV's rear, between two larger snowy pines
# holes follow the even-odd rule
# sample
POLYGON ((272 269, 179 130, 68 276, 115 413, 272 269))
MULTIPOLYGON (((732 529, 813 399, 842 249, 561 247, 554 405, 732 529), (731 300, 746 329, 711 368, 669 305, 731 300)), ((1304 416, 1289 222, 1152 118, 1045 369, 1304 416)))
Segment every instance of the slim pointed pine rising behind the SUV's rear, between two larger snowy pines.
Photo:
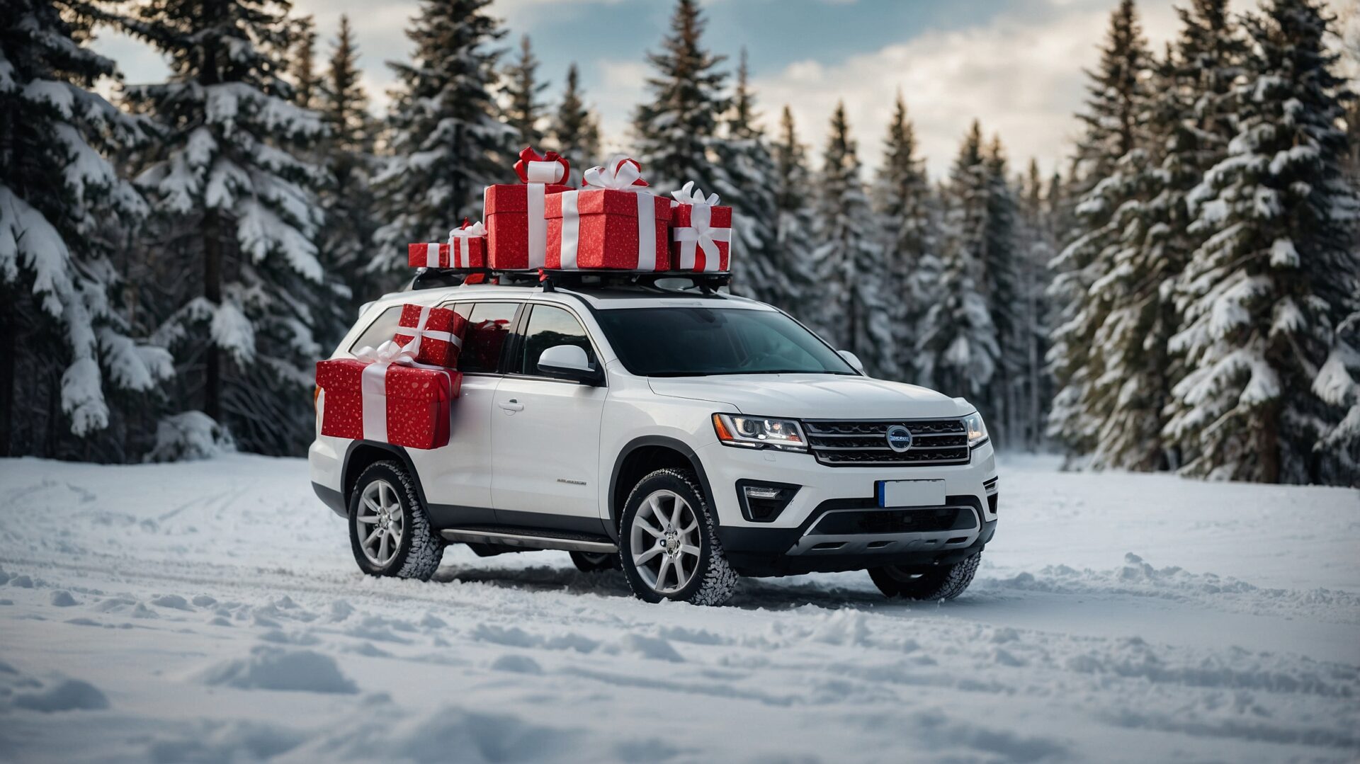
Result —
POLYGON ((379 294, 381 284, 369 272, 373 257, 373 234, 378 228, 374 215, 373 173, 375 124, 369 114, 369 95, 359 71, 359 48, 350 18, 340 16, 340 27, 330 49, 330 61, 317 87, 317 110, 329 135, 322 141, 326 185, 321 193, 326 224, 321 232, 321 253, 328 271, 340 276, 350 288, 350 299, 339 307, 345 322, 332 326, 328 340, 339 341, 336 329, 348 326, 356 303, 379 294))

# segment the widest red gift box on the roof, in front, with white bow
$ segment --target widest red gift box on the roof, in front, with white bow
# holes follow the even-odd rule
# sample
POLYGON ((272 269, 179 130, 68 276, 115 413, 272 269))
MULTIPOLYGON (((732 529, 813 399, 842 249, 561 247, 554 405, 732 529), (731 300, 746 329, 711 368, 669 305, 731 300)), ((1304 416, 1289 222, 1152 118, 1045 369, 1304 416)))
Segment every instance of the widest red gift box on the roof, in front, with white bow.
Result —
POLYGON ((639 164, 617 159, 583 177, 547 198, 547 268, 668 271, 670 200, 650 193, 639 164))

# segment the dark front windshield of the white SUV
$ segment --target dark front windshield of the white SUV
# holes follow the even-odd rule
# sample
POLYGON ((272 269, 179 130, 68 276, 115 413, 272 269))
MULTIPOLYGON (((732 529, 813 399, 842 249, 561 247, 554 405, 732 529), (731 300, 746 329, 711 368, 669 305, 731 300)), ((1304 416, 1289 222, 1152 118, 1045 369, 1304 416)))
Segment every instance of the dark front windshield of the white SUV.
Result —
POLYGON ((855 374, 812 332, 774 310, 632 307, 596 318, 624 368, 639 377, 855 374))

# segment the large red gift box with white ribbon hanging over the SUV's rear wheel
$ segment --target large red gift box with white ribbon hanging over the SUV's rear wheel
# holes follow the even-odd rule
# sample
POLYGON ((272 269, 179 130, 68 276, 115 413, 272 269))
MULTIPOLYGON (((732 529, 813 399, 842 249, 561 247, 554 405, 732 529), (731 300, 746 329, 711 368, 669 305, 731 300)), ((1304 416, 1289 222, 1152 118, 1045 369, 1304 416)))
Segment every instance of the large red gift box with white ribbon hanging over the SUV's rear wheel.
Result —
POLYGON ((377 360, 317 363, 317 386, 325 390, 321 434, 408 449, 447 446, 449 402, 458 397, 462 375, 408 366, 409 356, 393 343, 363 351, 377 360), (407 363, 393 363, 393 356, 404 356, 407 363))

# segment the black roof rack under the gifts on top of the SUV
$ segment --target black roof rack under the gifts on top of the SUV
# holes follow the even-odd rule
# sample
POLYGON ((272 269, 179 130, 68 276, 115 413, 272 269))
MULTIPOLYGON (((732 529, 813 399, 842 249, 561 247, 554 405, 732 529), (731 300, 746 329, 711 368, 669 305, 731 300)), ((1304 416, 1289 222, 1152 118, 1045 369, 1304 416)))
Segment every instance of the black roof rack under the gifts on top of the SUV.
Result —
POLYGON ((494 271, 490 268, 422 268, 411 281, 411 290, 437 290, 464 284, 469 276, 481 275, 481 283, 492 277, 507 287, 543 287, 551 292, 558 288, 573 291, 589 290, 643 290, 651 292, 679 292, 690 281, 688 288, 703 294, 717 292, 732 283, 732 273, 694 273, 690 271, 494 271))

